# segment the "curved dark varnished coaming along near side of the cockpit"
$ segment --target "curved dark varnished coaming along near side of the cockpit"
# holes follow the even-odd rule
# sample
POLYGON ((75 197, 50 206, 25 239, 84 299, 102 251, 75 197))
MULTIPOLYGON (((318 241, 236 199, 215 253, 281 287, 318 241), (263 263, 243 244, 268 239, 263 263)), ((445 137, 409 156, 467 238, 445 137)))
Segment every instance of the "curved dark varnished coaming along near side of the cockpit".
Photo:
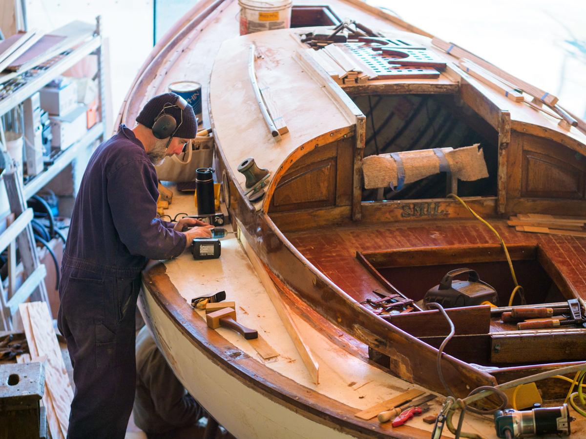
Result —
MULTIPOLYGON (((444 392, 444 389, 439 385, 440 381, 435 368, 431 368, 431 371, 430 368, 425 368, 424 371, 420 364, 414 364, 419 362, 434 364, 438 352, 436 348, 367 311, 312 265, 289 242, 268 215, 259 214, 258 216, 287 252, 271 252, 270 249, 267 251, 266 248, 259 245, 258 239, 254 242, 249 241, 253 247, 256 246, 255 251, 263 259, 263 262, 271 267, 272 271, 289 289, 295 291, 305 303, 334 325, 394 359, 394 365, 391 362, 391 371, 400 378, 428 387, 436 392, 444 392), (295 266, 295 262, 297 265, 301 264, 306 273, 298 273, 295 279, 289 279, 284 276, 284 267, 291 270, 291 267, 295 266), (420 356, 418 358, 417 355, 413 356, 415 353, 420 356)), ((448 377, 447 380, 451 383, 452 390, 460 395, 467 395, 469 393, 468 387, 495 385, 495 379, 491 375, 450 355, 444 354, 442 366, 444 376, 448 377), (471 384, 472 386, 470 386, 471 384)))

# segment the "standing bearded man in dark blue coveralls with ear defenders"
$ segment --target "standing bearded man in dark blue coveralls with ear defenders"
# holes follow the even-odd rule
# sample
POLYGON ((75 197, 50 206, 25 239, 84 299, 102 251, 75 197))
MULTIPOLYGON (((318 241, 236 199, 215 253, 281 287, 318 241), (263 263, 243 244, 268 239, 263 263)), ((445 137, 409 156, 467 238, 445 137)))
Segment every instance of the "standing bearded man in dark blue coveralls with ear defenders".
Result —
POLYGON ((93 153, 71 215, 58 316, 76 387, 68 438, 124 438, 136 384, 141 270, 148 259, 175 258, 193 238, 211 236, 212 226, 195 219, 156 218, 154 164, 195 138, 192 107, 162 94, 137 122, 120 125, 93 153), (192 228, 182 232, 186 225, 192 228))

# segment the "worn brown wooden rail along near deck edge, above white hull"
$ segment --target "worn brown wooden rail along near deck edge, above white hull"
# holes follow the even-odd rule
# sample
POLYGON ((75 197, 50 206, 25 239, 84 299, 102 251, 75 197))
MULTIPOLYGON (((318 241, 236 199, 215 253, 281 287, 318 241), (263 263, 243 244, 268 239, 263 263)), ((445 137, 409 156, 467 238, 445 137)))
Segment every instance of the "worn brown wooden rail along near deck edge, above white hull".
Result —
MULTIPOLYGON (((356 437, 366 438, 373 435, 401 439, 428 437, 428 431, 418 428, 404 426, 398 431, 387 424, 379 424, 376 420, 364 421, 356 418, 353 415, 359 410, 299 385, 250 358, 218 332, 207 328, 203 319, 193 318, 193 311, 172 284, 162 262, 156 262, 147 267, 142 276, 145 287, 142 294, 145 294, 144 290, 147 294, 151 294, 156 304, 169 317, 173 325, 183 332, 194 348, 199 349, 210 361, 221 366, 226 373, 238 378, 245 385, 272 401, 310 420, 325 424, 333 430, 356 437)), ((169 363, 172 365, 172 362, 169 363)))

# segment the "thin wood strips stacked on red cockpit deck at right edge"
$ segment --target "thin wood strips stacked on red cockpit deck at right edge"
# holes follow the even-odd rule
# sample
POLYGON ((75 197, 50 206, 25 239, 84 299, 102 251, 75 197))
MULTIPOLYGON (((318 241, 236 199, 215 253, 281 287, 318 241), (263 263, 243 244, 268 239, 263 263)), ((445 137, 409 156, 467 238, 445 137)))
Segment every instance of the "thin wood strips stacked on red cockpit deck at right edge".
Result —
POLYGON ((570 215, 519 214, 507 221, 519 232, 586 236, 586 218, 570 215))

